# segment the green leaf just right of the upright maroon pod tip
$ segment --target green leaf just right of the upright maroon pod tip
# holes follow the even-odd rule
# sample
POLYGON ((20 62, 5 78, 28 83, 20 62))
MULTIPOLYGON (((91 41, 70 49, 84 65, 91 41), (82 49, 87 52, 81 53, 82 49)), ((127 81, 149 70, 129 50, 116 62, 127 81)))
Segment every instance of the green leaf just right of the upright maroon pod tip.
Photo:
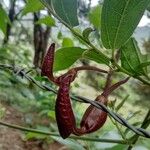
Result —
POLYGON ((56 51, 54 60, 54 71, 67 69, 76 62, 85 49, 80 47, 65 47, 56 51))

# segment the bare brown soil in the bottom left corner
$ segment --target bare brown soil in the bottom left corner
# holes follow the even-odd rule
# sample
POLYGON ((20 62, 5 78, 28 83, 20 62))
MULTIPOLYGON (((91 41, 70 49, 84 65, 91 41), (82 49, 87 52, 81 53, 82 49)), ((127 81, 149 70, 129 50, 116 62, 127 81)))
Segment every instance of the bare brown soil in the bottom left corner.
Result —
MULTIPOLYGON (((2 104, 6 109, 2 121, 24 125, 23 114, 18 112, 15 108, 2 104)), ((58 142, 46 144, 40 140, 23 140, 23 135, 19 130, 8 128, 0 125, 0 150, 65 150, 64 145, 58 142)))

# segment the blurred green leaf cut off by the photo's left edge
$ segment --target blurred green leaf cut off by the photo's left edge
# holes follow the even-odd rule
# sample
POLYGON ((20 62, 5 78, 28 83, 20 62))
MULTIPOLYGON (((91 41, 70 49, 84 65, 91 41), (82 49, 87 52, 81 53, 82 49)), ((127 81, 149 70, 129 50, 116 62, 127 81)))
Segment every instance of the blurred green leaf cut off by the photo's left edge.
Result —
POLYGON ((6 34, 7 24, 11 24, 10 19, 2 5, 0 5, 0 29, 4 34, 6 34))

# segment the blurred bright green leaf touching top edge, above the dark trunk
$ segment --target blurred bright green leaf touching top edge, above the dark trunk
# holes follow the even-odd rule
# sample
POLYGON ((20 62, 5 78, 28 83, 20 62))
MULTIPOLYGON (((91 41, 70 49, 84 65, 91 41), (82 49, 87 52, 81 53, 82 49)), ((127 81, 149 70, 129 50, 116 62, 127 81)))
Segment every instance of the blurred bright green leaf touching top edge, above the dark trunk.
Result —
POLYGON ((39 0, 27 0, 26 6, 23 9, 22 16, 27 13, 37 12, 44 9, 43 4, 39 0))

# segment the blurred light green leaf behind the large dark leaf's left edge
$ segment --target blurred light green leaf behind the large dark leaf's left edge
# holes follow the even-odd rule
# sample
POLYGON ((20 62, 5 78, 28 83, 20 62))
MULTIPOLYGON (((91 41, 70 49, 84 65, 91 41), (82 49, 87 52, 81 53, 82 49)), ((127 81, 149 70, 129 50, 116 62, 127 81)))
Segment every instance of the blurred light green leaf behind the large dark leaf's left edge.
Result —
POLYGON ((101 28, 101 12, 102 12, 102 6, 97 5, 91 9, 88 15, 90 22, 98 30, 100 30, 101 28))

